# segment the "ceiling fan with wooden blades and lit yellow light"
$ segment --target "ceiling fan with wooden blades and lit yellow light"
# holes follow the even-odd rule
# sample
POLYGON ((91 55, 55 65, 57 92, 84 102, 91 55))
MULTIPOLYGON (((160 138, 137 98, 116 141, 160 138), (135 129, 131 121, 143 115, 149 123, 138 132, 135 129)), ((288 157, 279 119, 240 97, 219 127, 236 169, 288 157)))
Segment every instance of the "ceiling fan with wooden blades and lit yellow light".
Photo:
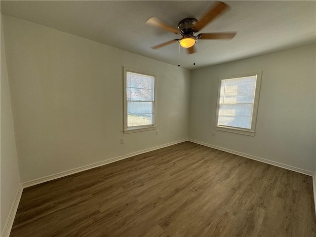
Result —
POLYGON ((196 52, 195 43, 197 42, 197 40, 233 39, 236 36, 237 32, 201 33, 197 36, 194 35, 228 8, 229 6, 226 3, 216 1, 215 6, 210 8, 199 21, 196 18, 185 18, 179 22, 178 28, 163 22, 157 16, 150 17, 146 21, 147 24, 182 36, 181 39, 175 39, 160 43, 158 45, 152 46, 152 48, 157 49, 168 44, 178 42, 182 47, 187 48, 188 53, 191 54, 196 52))

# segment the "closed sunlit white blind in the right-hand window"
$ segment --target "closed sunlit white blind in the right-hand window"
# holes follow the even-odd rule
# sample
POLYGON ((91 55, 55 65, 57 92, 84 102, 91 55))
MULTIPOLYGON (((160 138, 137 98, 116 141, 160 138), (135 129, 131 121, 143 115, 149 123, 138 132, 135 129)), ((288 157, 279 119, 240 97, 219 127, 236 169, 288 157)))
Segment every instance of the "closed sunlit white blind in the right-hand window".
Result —
POLYGON ((217 125, 250 129, 257 75, 222 79, 217 125))

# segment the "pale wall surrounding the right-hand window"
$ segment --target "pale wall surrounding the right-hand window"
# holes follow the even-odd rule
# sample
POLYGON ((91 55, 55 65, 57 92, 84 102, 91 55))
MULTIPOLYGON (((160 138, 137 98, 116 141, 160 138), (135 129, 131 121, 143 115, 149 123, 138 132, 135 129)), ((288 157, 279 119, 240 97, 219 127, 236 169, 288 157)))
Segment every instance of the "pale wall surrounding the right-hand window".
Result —
POLYGON ((189 138, 315 172, 316 48, 285 50, 192 72, 189 138), (263 71, 256 135, 212 131, 218 80, 263 71))

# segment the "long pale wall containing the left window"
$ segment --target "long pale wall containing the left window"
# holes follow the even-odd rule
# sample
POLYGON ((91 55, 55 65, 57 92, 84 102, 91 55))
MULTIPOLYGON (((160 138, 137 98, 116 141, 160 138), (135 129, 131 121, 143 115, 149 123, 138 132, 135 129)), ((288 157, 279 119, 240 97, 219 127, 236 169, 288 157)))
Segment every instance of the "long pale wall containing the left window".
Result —
POLYGON ((187 139, 189 70, 14 17, 3 27, 22 182, 187 139), (159 135, 123 134, 123 66, 157 73, 159 135))

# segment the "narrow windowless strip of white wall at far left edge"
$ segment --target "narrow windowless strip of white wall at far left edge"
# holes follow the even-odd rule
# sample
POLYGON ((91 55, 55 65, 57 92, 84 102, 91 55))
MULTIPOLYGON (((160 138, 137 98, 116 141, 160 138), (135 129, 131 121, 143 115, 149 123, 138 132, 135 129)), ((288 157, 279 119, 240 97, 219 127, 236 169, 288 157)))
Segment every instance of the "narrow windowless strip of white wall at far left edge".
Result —
POLYGON ((0 233, 8 220, 10 210, 20 187, 20 175, 16 152, 5 48, 1 22, 1 115, 0 115, 0 166, 1 166, 1 216, 0 233))

